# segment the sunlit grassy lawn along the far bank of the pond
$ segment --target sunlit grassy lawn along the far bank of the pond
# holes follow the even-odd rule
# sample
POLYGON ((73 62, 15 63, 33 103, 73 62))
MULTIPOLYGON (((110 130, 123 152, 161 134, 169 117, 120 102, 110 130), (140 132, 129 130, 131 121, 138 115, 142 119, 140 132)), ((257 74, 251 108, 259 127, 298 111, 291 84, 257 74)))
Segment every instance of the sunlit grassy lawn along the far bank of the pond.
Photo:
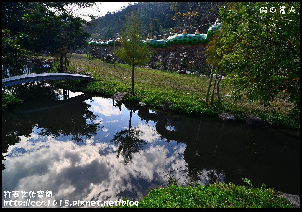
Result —
MULTIPOLYGON (((72 54, 70 70, 73 73, 82 74, 88 71, 88 57, 85 54, 72 54), (82 68, 83 71, 77 71, 82 68)), ((131 93, 132 69, 125 64, 115 64, 102 62, 100 59, 93 59, 89 67, 89 73, 95 78, 94 82, 64 81, 57 83, 60 87, 71 90, 85 91, 99 95, 111 96, 116 92, 131 93)), ((176 72, 159 71, 147 68, 136 68, 134 71, 134 88, 136 97, 128 97, 126 101, 143 101, 148 106, 161 109, 171 109, 192 115, 218 115, 221 112, 230 112, 236 119, 244 119, 246 115, 257 115, 263 121, 271 119, 275 125, 288 126, 298 129, 299 125, 293 125, 286 121, 288 108, 284 108, 289 103, 276 100, 270 107, 261 106, 258 102, 242 100, 232 100, 226 97, 232 86, 220 88, 221 104, 217 103, 217 93, 215 88, 214 104, 209 106, 203 99, 206 96, 209 79, 189 74, 178 74, 176 72), (280 109, 278 110, 278 106, 280 109), (273 113, 272 111, 274 111, 273 113)), ((213 90, 215 79, 212 81, 209 98, 213 90)), ((223 83, 223 80, 220 84, 223 83)), ((281 94, 282 95, 282 92, 281 94)))

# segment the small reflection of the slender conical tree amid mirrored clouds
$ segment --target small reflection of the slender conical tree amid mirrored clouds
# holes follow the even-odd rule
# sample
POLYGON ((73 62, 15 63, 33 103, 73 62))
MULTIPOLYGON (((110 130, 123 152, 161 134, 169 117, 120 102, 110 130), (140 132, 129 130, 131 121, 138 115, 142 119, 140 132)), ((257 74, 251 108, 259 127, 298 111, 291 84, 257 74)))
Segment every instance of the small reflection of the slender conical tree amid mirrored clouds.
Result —
POLYGON ((143 133, 137 126, 131 126, 131 117, 133 110, 130 110, 130 119, 129 119, 129 129, 123 129, 114 134, 114 137, 111 139, 111 142, 119 145, 117 149, 117 156, 120 157, 120 154, 124 157, 124 164, 127 165, 132 161, 133 153, 140 153, 140 150, 143 149, 143 144, 147 142, 140 138, 140 135, 143 133))

